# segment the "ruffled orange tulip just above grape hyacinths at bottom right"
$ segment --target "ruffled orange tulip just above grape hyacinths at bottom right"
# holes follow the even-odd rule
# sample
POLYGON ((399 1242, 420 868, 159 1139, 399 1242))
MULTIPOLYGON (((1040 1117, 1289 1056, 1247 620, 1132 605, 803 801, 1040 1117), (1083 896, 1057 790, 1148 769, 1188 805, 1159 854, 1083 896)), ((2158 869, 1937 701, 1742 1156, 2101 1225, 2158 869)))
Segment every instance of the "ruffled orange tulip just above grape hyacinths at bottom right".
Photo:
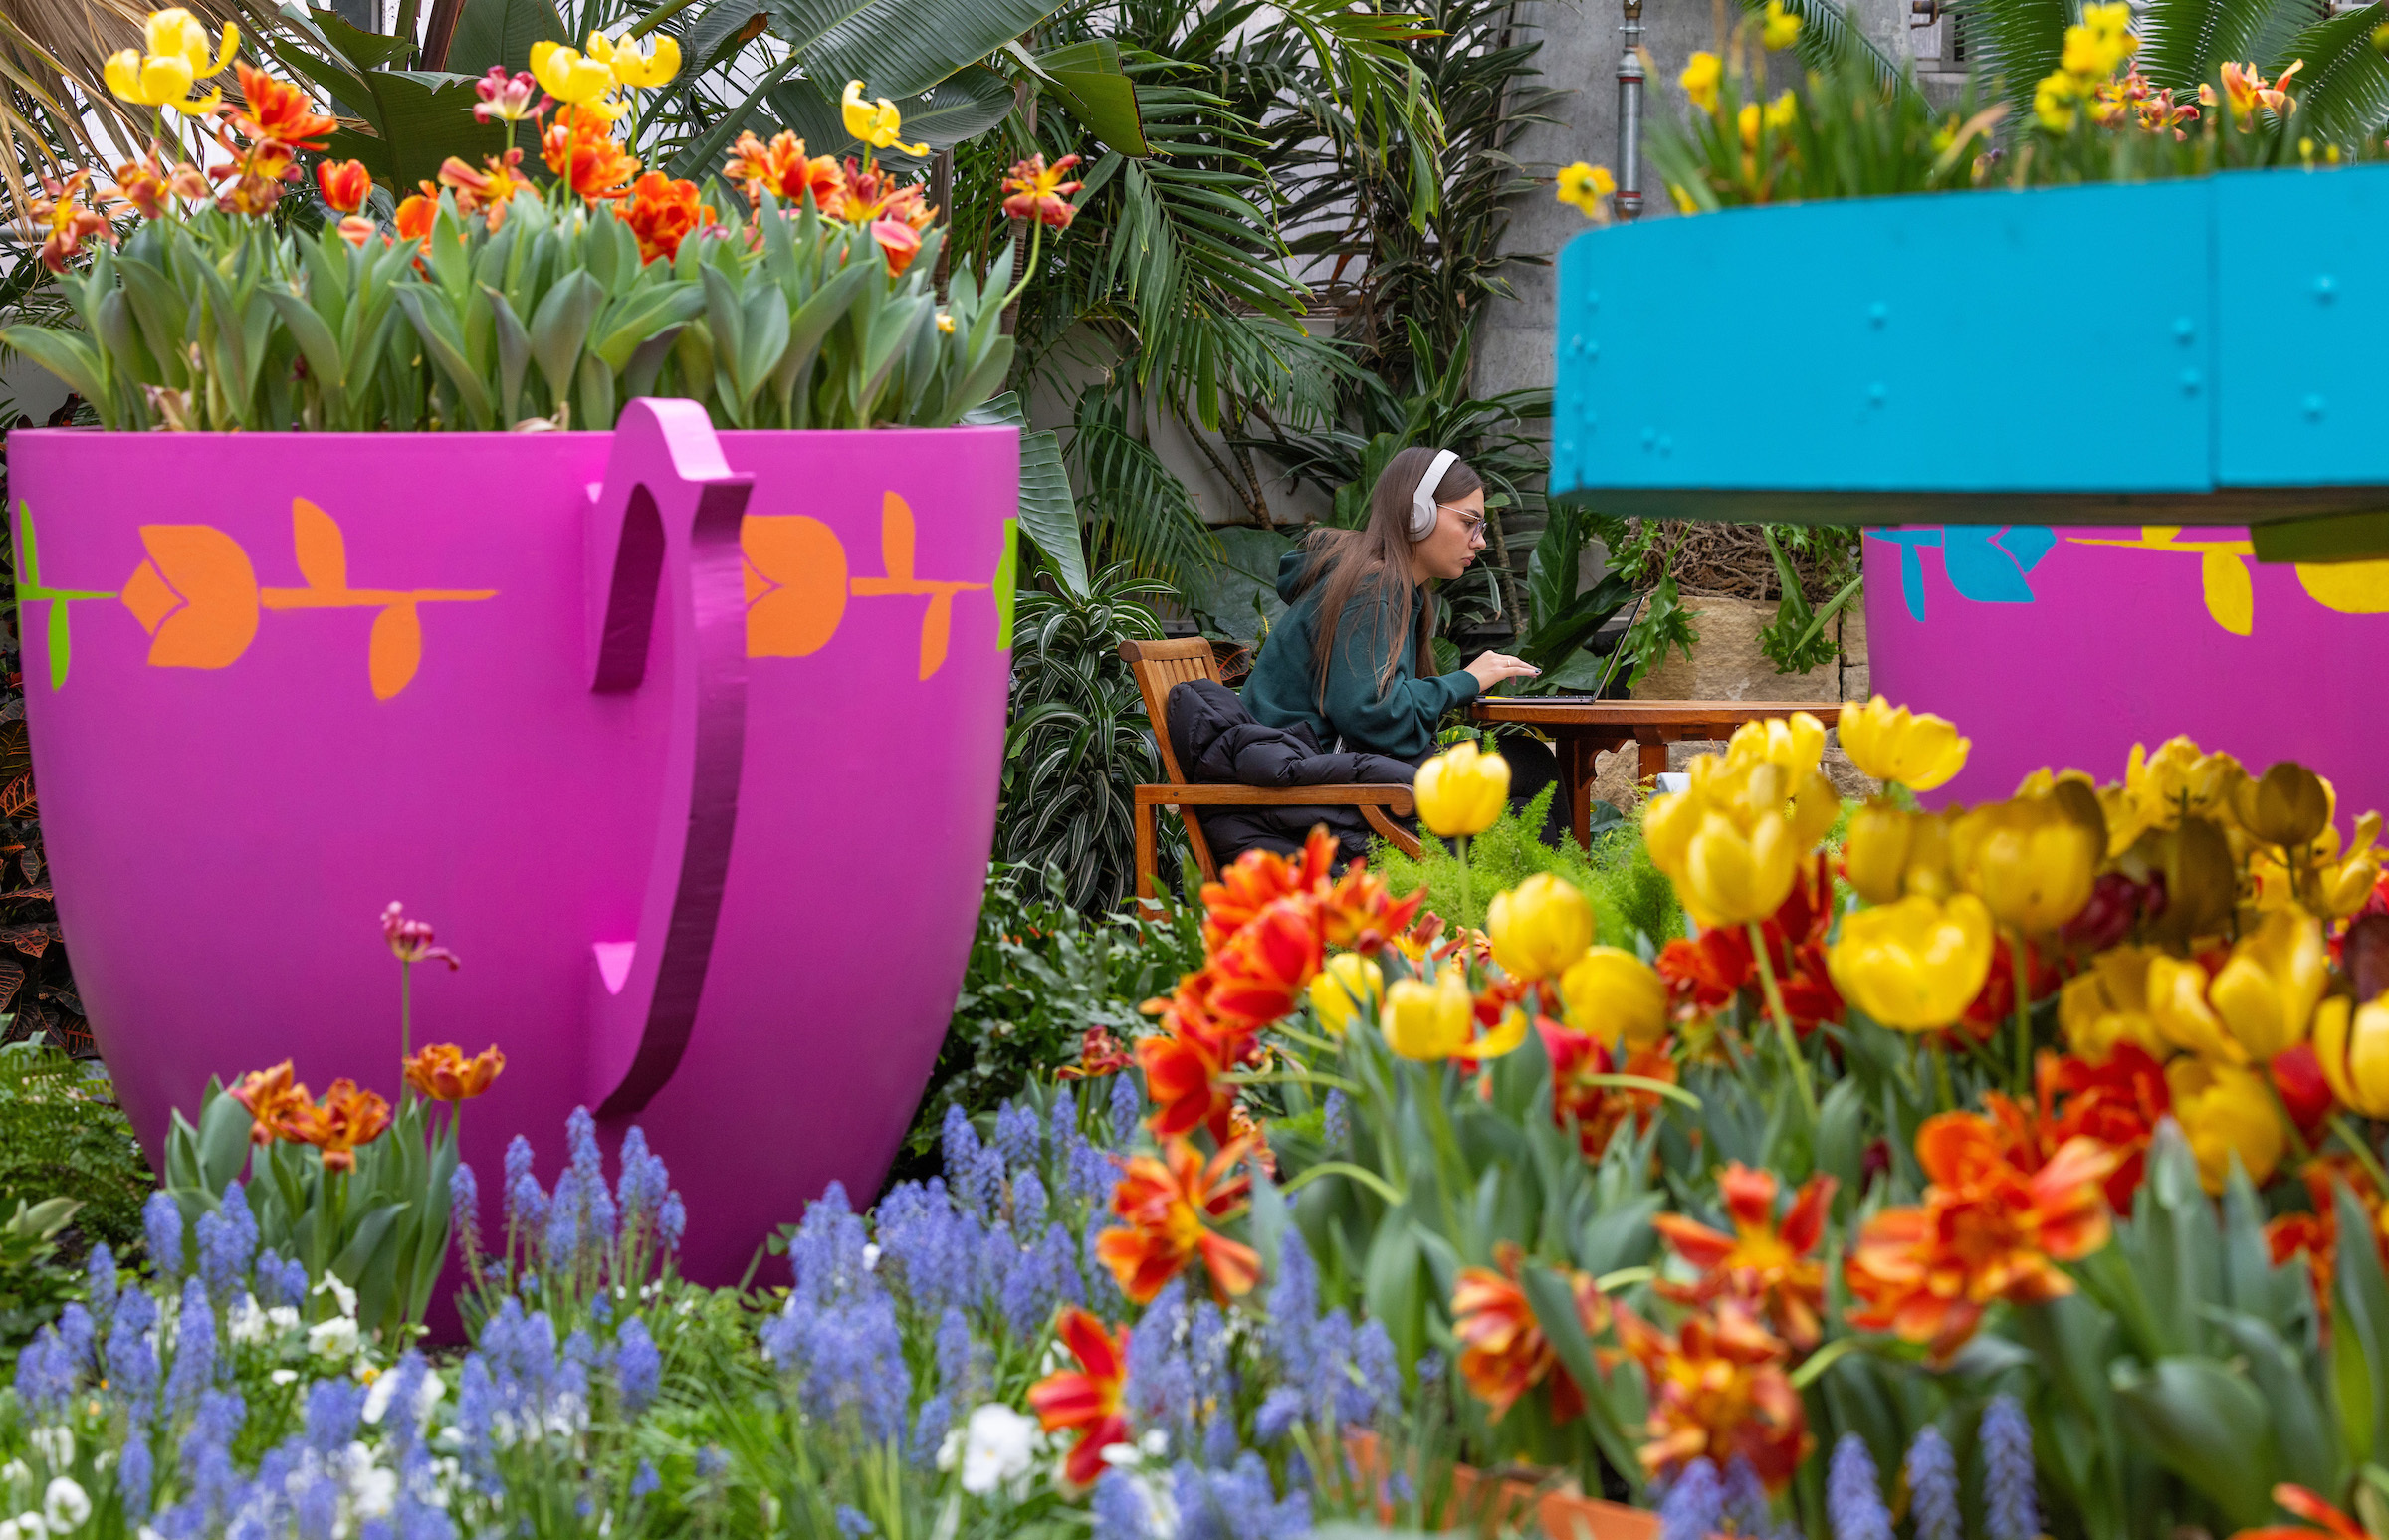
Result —
POLYGON ((1651 1385, 1651 1442, 1639 1452, 1646 1471, 1742 1456, 1770 1492, 1792 1480, 1816 1440, 1785 1375, 1785 1344, 1749 1306, 1720 1299, 1715 1316, 1691 1316, 1672 1337, 1617 1306, 1617 1342, 1651 1385))

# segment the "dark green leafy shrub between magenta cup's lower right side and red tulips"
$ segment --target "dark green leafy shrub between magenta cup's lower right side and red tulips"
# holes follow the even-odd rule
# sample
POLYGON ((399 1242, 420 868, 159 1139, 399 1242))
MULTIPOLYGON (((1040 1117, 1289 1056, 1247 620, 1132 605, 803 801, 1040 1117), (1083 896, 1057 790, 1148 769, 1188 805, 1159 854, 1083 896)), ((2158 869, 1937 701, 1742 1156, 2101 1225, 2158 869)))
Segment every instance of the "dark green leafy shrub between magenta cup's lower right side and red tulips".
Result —
POLYGON ((984 1117, 1077 1062, 1082 1034, 1104 1029, 1125 1043, 1147 1024, 1137 1005, 1202 967, 1199 907, 1082 914, 1061 898, 1065 888, 1056 867, 989 864, 970 969, 908 1153, 936 1144, 946 1108, 984 1117))

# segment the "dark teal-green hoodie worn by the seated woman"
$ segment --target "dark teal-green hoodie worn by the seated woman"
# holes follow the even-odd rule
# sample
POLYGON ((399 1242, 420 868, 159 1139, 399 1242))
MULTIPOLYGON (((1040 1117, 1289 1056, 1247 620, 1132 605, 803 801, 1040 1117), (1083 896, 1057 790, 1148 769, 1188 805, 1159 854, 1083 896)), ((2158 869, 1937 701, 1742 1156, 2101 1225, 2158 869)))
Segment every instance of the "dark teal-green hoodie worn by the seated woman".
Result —
POLYGON ((1412 637, 1419 630, 1419 609, 1426 604, 1424 587, 1410 590, 1410 614, 1402 616, 1400 626, 1378 626, 1386 599, 1371 599, 1364 590, 1345 604, 1338 618, 1340 640, 1328 666, 1326 709, 1321 709, 1319 654, 1314 649, 1319 595, 1326 590, 1326 580, 1295 599, 1307 566, 1309 552, 1302 549, 1278 559, 1278 597, 1292 609, 1271 628, 1261 661, 1245 680, 1245 709, 1271 728, 1290 728, 1300 721, 1324 750, 1333 750, 1335 740, 1343 738, 1347 750, 1419 762, 1436 747, 1436 723, 1443 721, 1443 714, 1476 700, 1476 676, 1467 671, 1417 676, 1412 637), (1398 659, 1393 680, 1381 690, 1376 678, 1386 664, 1381 652, 1386 637, 1393 640, 1398 659))

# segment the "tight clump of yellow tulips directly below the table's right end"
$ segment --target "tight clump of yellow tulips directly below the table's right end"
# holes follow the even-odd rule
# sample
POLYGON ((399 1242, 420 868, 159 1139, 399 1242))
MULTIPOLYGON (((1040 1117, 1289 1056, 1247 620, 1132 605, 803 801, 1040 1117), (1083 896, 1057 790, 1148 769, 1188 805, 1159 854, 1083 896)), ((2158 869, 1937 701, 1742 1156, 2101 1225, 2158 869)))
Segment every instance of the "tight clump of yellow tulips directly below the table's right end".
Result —
POLYGON ((1782 907, 1801 857, 1842 817, 1823 754, 1825 723, 1806 712, 1746 721, 1725 754, 1691 762, 1687 790, 1653 797, 1644 843, 1694 919, 1751 924, 1782 907))

